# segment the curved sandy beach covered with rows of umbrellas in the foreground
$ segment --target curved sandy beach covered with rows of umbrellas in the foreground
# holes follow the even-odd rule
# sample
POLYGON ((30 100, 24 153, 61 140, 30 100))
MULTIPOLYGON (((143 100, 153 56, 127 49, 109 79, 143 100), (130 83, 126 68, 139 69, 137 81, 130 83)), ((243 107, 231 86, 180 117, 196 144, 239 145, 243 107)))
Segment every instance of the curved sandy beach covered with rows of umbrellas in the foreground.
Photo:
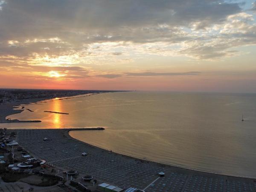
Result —
POLYGON ((255 192, 256 182, 251 179, 201 173, 157 163, 136 160, 119 154, 94 148, 73 140, 64 129, 26 129, 17 131, 16 140, 32 155, 52 162, 67 170, 78 170, 79 175, 93 175, 98 180, 116 186, 144 189, 165 172, 150 192, 255 192), (49 140, 44 141, 47 137, 49 140), (81 153, 87 152, 87 156, 81 153))

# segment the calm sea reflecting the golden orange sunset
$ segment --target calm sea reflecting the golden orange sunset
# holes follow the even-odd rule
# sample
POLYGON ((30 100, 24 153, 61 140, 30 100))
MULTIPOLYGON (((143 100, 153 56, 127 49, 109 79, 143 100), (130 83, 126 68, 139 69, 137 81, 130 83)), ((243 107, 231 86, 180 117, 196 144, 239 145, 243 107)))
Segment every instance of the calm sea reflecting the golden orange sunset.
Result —
POLYGON ((256 178, 255 94, 120 92, 24 107, 34 112, 25 110, 9 118, 42 122, 2 126, 105 127, 104 131, 71 131, 70 135, 146 160, 256 178))

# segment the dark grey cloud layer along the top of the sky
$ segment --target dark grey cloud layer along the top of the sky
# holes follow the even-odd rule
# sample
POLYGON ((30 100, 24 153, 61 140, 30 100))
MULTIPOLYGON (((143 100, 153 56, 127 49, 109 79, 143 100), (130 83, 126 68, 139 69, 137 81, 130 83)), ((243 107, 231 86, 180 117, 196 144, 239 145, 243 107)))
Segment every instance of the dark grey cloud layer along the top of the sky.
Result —
POLYGON ((100 41, 151 41, 151 35, 164 39, 170 33, 153 26, 209 26, 240 11, 238 3, 222 0, 6 0, 0 40, 58 37, 76 47, 100 41))

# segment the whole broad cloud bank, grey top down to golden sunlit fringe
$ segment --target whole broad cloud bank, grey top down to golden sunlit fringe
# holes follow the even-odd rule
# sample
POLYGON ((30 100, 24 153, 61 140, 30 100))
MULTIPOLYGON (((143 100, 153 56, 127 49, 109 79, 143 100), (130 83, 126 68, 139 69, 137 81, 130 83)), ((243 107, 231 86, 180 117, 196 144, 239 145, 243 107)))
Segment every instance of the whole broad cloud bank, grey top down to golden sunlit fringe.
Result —
POLYGON ((19 64, 78 65, 101 63, 100 56, 104 61, 114 59, 107 55, 125 56, 125 50, 114 46, 108 52, 106 47, 89 50, 94 44, 108 42, 130 49, 157 45, 151 50, 133 49, 135 54, 216 60, 240 54, 230 50, 233 47, 254 44, 253 17, 243 13, 234 1, 74 1, 3 1, 0 56, 6 59, 0 61, 10 61, 12 56, 19 64))

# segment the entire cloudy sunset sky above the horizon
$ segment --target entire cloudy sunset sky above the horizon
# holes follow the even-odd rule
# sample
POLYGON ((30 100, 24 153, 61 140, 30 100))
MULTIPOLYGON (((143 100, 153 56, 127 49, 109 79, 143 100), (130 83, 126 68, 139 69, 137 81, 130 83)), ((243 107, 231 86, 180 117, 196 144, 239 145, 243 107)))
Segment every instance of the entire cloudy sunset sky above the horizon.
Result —
POLYGON ((256 93, 256 1, 0 0, 0 87, 256 93))

